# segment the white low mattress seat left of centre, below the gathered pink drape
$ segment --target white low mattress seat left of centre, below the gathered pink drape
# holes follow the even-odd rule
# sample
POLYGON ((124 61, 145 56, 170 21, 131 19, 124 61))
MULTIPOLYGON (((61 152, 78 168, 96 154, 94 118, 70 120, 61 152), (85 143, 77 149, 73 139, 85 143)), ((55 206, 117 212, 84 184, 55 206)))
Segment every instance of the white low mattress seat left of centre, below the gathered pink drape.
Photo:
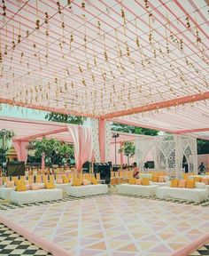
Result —
POLYGON ((87 186, 69 186, 66 188, 66 195, 68 196, 93 196, 99 194, 106 194, 108 192, 108 186, 105 184, 87 185, 87 186))

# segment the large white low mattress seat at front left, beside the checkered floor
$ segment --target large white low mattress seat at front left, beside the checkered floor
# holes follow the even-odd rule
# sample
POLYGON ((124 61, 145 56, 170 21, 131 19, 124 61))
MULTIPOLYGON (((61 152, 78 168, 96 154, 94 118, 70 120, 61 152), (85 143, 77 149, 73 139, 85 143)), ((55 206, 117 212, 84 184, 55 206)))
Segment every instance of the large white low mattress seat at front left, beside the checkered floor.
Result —
POLYGON ((11 201, 16 204, 31 204, 62 199, 62 189, 38 189, 27 191, 12 191, 11 201))

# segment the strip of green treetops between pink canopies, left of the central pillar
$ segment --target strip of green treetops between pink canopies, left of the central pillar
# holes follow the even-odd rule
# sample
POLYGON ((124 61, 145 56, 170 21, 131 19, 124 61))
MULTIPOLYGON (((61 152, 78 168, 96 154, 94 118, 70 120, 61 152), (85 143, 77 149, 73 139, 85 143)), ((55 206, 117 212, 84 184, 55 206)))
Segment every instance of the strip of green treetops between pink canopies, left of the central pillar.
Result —
POLYGON ((72 116, 72 115, 50 112, 45 116, 45 119, 53 122, 66 123, 66 124, 83 124, 86 118, 82 116, 72 116))

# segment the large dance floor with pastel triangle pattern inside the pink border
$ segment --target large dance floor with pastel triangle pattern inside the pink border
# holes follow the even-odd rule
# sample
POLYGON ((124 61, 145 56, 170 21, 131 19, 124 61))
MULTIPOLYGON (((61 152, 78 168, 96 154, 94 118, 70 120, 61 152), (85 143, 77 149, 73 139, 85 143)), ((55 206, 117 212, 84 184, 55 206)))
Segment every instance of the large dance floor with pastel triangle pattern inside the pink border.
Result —
MULTIPOLYGON (((76 200, 68 196, 61 203, 44 203, 32 207, 1 204, 0 208, 8 209, 2 211, 4 217, 43 236, 73 255, 169 255, 182 245, 204 235, 209 227, 207 207, 128 196, 96 196, 76 200), (149 217, 153 212, 154 220, 149 217), (60 214, 62 218, 58 223, 60 214), (172 220, 172 226, 165 224, 168 220, 172 220), (195 228, 190 226, 194 223, 195 228)), ((27 246, 19 248, 11 244, 19 237, 17 234, 13 236, 13 240, 9 240, 11 243, 6 242, 9 243, 9 247, 6 247, 5 242, 2 244, 1 241, 2 228, 0 227, 0 255, 50 255, 27 241, 25 243, 30 245, 21 245, 28 245, 29 249, 27 246)), ((9 233, 12 234, 12 231, 9 233)), ((190 255, 209 255, 208 245, 203 249, 190 255)))

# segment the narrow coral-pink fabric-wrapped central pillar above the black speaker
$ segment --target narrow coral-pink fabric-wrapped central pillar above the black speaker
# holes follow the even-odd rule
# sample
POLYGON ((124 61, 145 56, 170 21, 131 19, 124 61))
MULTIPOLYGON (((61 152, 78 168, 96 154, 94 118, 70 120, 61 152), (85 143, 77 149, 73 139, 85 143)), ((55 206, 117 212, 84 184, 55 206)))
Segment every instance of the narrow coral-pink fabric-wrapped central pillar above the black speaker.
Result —
POLYGON ((99 140, 99 151, 101 162, 106 162, 105 157, 105 133, 106 133, 106 122, 104 119, 98 120, 98 140, 99 140))

